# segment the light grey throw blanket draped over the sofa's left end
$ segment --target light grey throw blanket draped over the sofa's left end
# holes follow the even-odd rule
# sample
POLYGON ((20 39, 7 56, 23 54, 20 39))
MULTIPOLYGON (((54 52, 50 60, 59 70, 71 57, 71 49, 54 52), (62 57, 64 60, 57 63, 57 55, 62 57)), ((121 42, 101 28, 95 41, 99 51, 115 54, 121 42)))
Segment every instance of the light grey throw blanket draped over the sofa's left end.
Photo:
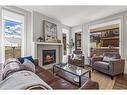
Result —
POLYGON ((3 64, 2 79, 0 89, 52 89, 16 59, 9 59, 3 64))

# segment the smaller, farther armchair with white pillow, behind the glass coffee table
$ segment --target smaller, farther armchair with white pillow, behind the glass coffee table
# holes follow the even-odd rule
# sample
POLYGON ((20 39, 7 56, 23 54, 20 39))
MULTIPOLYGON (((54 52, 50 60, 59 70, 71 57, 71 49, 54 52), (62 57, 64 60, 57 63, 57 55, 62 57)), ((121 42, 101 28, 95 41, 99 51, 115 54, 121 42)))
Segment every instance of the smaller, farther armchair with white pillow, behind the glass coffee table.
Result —
POLYGON ((68 56, 68 63, 79 67, 84 67, 84 55, 82 51, 75 50, 68 56))

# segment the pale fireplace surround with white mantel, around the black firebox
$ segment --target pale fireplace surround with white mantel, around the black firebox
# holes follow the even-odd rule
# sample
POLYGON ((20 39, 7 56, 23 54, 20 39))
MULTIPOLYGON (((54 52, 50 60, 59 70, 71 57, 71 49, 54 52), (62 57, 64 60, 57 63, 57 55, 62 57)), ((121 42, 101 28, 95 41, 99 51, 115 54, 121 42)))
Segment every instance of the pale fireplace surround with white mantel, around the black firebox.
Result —
POLYGON ((43 65, 43 50, 56 50, 56 64, 62 62, 63 55, 63 44, 62 43, 46 43, 46 42, 35 42, 34 43, 34 58, 39 59, 39 66, 45 69, 50 69, 55 63, 43 65))

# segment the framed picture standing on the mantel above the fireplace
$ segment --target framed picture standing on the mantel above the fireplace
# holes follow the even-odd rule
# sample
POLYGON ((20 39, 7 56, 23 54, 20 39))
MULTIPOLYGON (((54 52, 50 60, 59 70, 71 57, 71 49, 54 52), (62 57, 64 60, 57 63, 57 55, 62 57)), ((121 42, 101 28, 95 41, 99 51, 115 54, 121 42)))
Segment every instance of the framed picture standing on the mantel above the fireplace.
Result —
POLYGON ((57 25, 46 20, 43 21, 45 42, 54 41, 57 39, 57 25))

